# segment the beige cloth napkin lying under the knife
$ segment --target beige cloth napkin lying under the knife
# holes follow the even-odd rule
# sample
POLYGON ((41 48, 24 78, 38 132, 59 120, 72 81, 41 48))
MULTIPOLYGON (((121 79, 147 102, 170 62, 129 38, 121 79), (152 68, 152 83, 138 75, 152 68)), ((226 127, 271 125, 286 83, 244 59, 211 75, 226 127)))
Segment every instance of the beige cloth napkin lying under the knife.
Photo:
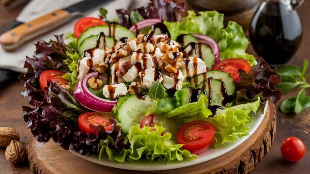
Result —
MULTIPOLYGON (((48 12, 61 9, 64 7, 68 7, 72 4, 80 2, 82 0, 32 0, 29 4, 21 11, 17 20, 20 22, 28 22, 30 20, 36 19, 48 12)), ((134 7, 141 7, 148 3, 148 0, 114 0, 104 4, 102 7, 108 10, 107 19, 113 20, 117 17, 115 9, 132 9, 134 7)), ((86 16, 98 17, 99 9, 94 9, 86 16)), ((36 43, 38 39, 43 39, 45 41, 49 41, 50 39, 55 39, 53 34, 66 34, 73 33, 73 26, 75 22, 81 17, 76 17, 66 25, 59 27, 47 33, 45 35, 40 36, 40 38, 33 39, 32 41, 24 44, 16 51, 6 52, 2 48, 0 48, 0 68, 2 69, 10 69, 17 72, 25 72, 27 69, 24 69, 24 61, 26 60, 25 56, 32 57, 35 46, 33 43, 36 43)), ((70 42, 70 41, 65 41, 70 42)))

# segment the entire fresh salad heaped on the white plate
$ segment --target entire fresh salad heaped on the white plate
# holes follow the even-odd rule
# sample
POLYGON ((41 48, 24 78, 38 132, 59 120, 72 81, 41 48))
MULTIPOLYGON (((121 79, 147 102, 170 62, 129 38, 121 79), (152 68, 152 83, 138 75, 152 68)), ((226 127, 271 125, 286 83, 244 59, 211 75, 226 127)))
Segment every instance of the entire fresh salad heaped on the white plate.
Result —
POLYGON ((243 29, 217 11, 151 0, 108 21, 82 18, 68 34, 39 40, 20 75, 34 138, 124 162, 196 159, 248 136, 267 100, 277 102, 277 68, 245 52, 243 29))

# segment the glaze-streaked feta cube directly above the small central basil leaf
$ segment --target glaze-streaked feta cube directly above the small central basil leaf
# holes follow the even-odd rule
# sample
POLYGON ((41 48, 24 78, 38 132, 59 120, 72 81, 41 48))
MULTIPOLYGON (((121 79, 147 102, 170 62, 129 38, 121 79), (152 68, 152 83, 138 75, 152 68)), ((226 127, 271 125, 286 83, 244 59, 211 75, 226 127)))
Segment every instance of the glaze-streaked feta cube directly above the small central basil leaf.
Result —
POLYGON ((156 80, 162 82, 162 72, 159 68, 150 68, 139 72, 141 78, 141 87, 150 88, 152 83, 156 80))

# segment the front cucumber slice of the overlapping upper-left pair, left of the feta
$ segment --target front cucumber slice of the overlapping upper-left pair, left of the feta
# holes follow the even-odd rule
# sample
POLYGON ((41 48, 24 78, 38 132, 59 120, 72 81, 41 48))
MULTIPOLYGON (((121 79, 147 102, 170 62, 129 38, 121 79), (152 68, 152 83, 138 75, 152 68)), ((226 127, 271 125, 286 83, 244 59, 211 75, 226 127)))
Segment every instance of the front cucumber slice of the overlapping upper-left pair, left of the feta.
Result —
MULTIPOLYGON (((83 54, 85 50, 94 48, 97 40, 98 40, 99 35, 92 35, 82 41, 80 44, 80 47, 78 47, 78 52, 80 55, 83 54)), ((108 37, 108 36, 101 36, 100 37, 100 44, 99 44, 99 49, 102 49, 104 46, 107 48, 112 48, 117 44, 117 40, 108 37)))

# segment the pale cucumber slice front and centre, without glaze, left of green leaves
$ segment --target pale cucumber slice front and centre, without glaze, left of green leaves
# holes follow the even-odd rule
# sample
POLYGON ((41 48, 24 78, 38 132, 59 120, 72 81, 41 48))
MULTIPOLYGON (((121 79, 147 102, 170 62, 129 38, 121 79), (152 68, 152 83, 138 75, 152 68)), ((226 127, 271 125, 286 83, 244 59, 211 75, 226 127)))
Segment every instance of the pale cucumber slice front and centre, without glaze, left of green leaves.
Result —
POLYGON ((148 95, 144 99, 140 100, 134 94, 118 101, 114 117, 118 120, 117 125, 121 127, 122 132, 125 134, 128 134, 130 127, 134 123, 141 123, 146 109, 151 106, 153 100, 148 95))

